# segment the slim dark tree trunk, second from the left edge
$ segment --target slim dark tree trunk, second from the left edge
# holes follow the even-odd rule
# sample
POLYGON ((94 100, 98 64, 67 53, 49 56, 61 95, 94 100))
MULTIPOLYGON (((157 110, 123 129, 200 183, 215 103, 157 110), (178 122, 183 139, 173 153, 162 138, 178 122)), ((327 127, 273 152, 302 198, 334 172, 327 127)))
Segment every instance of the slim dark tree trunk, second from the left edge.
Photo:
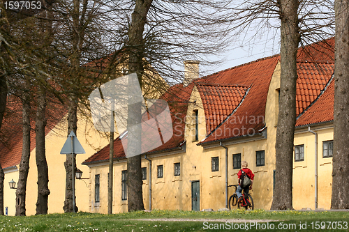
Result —
POLYGON ((27 190, 27 178, 29 172, 29 157, 30 157, 30 102, 28 93, 24 93, 22 101, 22 121, 23 121, 23 144, 22 157, 20 162, 20 175, 18 178, 16 190, 16 216, 25 216, 25 197, 27 190))

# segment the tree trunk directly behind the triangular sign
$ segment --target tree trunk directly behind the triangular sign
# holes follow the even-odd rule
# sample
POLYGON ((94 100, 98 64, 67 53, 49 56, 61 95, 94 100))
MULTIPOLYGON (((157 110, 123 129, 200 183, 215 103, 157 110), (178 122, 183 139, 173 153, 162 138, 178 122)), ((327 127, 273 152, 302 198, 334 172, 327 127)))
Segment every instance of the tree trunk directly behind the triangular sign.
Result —
MULTIPOLYGON (((68 135, 73 131, 76 135, 77 131, 77 102, 75 96, 71 95, 69 99, 68 106, 68 135)), ((73 157, 75 159, 75 155, 73 157)), ((76 171, 76 162, 75 171, 76 171)), ((75 178, 72 176, 72 155, 66 155, 66 162, 64 162, 64 167, 66 168, 66 200, 64 201, 64 212, 74 212, 73 210, 73 181, 75 178)), ((75 185, 74 185, 75 186, 75 185)), ((76 199, 76 197, 75 197, 76 199)), ((75 203, 75 212, 78 208, 75 203)))

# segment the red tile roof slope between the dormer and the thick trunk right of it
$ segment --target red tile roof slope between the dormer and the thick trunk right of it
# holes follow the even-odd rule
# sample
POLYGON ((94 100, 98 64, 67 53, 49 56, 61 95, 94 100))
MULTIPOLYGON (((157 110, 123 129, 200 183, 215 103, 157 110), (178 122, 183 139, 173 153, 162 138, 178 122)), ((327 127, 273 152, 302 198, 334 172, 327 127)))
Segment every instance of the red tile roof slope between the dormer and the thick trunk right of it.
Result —
POLYGON ((251 86, 248 93, 246 93, 246 98, 234 114, 222 125, 216 127, 216 130, 199 144, 253 134, 265 126, 267 92, 278 61, 279 56, 271 56, 229 70, 223 70, 198 80, 198 82, 251 86))

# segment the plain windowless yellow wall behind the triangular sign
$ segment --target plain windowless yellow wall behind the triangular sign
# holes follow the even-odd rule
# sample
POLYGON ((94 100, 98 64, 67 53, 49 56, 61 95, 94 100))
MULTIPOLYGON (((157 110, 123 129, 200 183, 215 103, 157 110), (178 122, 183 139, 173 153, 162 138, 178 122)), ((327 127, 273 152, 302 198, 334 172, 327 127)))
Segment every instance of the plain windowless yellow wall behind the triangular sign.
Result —
MULTIPOLYGON (((49 132, 46 136, 46 159, 49 171, 49 190, 48 196, 48 212, 64 212, 64 200, 66 189, 66 170, 64 168, 64 162, 66 161, 66 155, 61 155, 61 148, 66 142, 66 117, 49 132)), ((96 153, 97 150, 103 148, 108 144, 107 139, 101 137, 93 125, 88 123, 81 116, 77 121, 77 139, 84 148, 86 154, 76 155, 77 169, 80 169, 82 178, 89 178, 89 168, 81 163, 84 162, 91 154, 96 153)), ((37 182, 37 169, 35 150, 32 150, 29 160, 29 175, 27 182, 27 215, 34 215, 36 213, 36 200, 38 185, 37 182)), ((85 180, 86 181, 86 180, 85 180)), ((88 183, 87 183, 88 184, 88 183)), ((76 205, 80 211, 89 211, 89 188, 82 180, 75 181, 75 196, 76 205)))

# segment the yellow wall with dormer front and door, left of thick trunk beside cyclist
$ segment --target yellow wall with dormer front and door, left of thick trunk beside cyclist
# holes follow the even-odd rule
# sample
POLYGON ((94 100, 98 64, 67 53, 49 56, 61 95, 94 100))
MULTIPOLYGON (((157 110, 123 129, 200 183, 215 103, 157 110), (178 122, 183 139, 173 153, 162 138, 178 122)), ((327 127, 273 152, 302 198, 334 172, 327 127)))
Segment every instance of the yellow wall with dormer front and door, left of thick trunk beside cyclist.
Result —
MULTIPOLYGON (((279 65, 274 72, 272 85, 268 93, 267 111, 265 123, 267 125, 268 139, 258 141, 237 141, 236 144, 228 146, 228 184, 237 184, 237 172, 239 169, 232 169, 232 155, 242 154, 242 160, 248 162, 248 167, 255 173, 255 182, 253 184, 252 195, 255 199, 256 208, 269 208, 272 203, 273 191, 273 170, 275 167, 275 136, 276 136, 276 116, 278 94, 276 89, 279 88, 279 65), (265 166, 256 167, 255 152, 265 150, 265 166)), ((186 153, 177 155, 163 155, 149 157, 152 160, 152 209, 169 209, 169 210, 191 210, 191 182, 200 180, 200 210, 212 208, 218 210, 225 208, 225 149, 221 146, 204 149, 197 146, 198 141, 202 141, 206 136, 205 113, 202 107, 202 101, 197 89, 194 87, 186 117, 186 153), (195 120, 193 111, 198 110, 199 116, 199 138, 195 141, 195 120), (211 157, 219 157, 219 171, 211 171, 211 157), (181 162, 181 176, 174 177, 174 163, 181 162), (163 165, 163 178, 156 178, 157 166, 163 165)), ((121 185, 121 170, 126 170, 126 163, 114 164, 115 170, 119 175, 115 180, 117 185, 121 185)), ((149 162, 142 161, 142 167, 147 167, 149 171, 149 162)), ((91 176, 103 167, 91 167, 91 176)), ((105 167, 107 169, 107 167, 105 167)), ((92 178, 94 181, 94 178, 92 178)), ((94 185, 94 184, 93 184, 94 185)), ((149 186, 143 185, 144 206, 149 209, 149 186)), ((114 212, 124 212, 127 207, 121 207, 121 186, 119 189, 114 187, 115 207, 114 212)), ((228 189, 228 197, 233 194, 235 189, 228 189)), ((91 199, 94 199, 94 190, 91 191, 91 199)), ((102 199, 101 199, 102 201, 102 199)), ((96 208, 91 209, 96 212, 96 208)), ((100 207, 98 212, 107 212, 106 208, 100 207)))

